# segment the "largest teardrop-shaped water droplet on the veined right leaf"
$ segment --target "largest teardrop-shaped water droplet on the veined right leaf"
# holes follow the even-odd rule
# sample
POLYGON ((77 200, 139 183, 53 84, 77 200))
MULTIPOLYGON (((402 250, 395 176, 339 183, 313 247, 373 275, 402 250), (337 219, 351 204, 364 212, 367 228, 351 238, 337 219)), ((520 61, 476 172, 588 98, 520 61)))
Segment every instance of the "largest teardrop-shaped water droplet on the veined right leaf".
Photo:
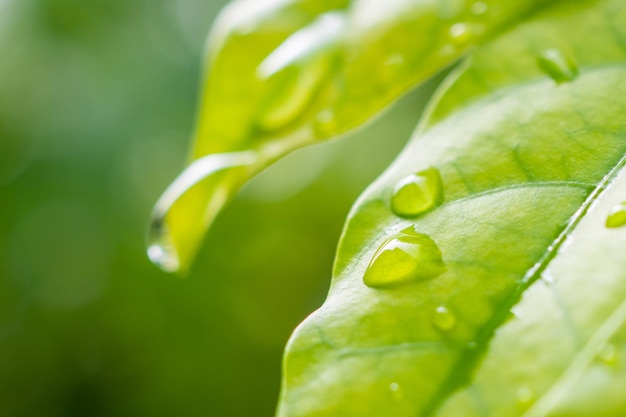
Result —
POLYGON ((410 226, 387 239, 372 258, 363 282, 369 287, 391 287, 433 279, 446 270, 433 240, 410 226))

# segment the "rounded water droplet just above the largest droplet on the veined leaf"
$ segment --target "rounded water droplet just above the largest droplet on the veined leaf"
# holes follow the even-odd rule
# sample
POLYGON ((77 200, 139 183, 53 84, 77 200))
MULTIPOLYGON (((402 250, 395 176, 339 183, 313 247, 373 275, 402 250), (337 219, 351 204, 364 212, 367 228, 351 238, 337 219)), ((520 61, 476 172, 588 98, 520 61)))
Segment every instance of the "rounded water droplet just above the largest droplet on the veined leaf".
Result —
POLYGON ((435 168, 404 177, 391 198, 391 210, 400 217, 416 217, 443 201, 441 175, 435 168))

